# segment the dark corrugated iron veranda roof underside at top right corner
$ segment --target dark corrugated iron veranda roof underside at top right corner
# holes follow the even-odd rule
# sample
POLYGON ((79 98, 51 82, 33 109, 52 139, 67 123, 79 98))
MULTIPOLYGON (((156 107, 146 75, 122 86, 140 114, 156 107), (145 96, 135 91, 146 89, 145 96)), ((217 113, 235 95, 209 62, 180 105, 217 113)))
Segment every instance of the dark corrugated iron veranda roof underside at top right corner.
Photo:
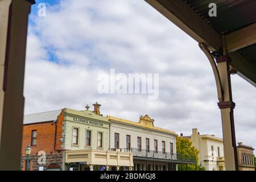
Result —
POLYGON ((219 34, 229 34, 256 22, 255 0, 183 0, 219 34), (210 17, 209 3, 216 3, 217 17, 210 17))

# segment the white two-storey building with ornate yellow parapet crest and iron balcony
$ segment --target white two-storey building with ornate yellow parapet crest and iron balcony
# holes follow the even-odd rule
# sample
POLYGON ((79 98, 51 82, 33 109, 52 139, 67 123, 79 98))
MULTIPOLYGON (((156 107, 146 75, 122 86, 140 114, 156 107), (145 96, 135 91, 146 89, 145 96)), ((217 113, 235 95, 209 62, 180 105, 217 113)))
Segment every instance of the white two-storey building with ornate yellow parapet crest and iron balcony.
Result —
POLYGON ((154 126, 154 119, 141 116, 139 122, 108 116, 110 148, 130 151, 135 171, 176 171, 177 164, 196 164, 195 156, 186 159, 176 154, 174 131, 154 126))

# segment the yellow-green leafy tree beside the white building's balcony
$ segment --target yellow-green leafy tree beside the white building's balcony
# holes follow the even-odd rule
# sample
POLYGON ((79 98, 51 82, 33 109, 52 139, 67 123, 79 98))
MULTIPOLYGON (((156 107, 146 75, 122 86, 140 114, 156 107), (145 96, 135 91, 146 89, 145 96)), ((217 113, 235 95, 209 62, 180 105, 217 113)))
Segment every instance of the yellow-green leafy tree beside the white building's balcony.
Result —
POLYGON ((178 170, 179 171, 199 171, 203 170, 205 171, 205 168, 200 169, 200 165, 198 165, 199 162, 199 150, 196 149, 196 147, 192 146, 191 140, 188 138, 183 138, 183 137, 176 137, 176 152, 177 154, 182 154, 183 158, 186 158, 187 156, 195 156, 196 157, 196 163, 195 164, 178 164, 178 170))

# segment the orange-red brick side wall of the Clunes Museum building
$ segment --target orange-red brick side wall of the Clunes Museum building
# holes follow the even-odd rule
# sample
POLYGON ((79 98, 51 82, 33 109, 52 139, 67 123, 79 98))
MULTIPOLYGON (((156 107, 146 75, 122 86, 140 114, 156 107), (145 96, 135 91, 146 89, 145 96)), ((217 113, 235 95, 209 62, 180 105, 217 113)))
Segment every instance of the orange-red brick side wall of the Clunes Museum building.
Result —
POLYGON ((31 146, 31 169, 38 170, 38 155, 39 151, 46 152, 46 165, 44 169, 47 168, 49 164, 62 164, 63 154, 62 154, 62 142, 63 138, 63 120, 64 111, 61 111, 57 122, 44 122, 44 123, 34 123, 31 125, 23 126, 23 138, 22 138, 22 161, 21 169, 25 169, 26 166, 26 148, 27 145, 31 146, 31 134, 32 130, 36 130, 36 146, 31 146))

